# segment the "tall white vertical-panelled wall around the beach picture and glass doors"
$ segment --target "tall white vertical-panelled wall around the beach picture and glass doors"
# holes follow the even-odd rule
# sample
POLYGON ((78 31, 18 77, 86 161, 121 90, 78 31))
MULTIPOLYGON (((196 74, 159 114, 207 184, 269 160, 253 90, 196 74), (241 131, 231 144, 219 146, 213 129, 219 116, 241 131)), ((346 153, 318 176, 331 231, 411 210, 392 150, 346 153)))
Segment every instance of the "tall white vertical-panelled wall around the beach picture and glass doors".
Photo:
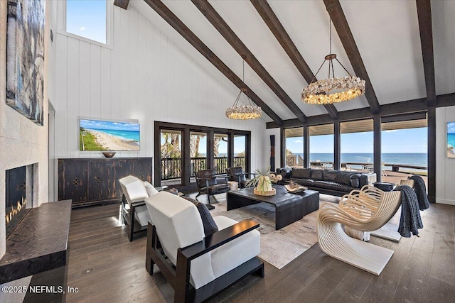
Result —
POLYGON ((251 131, 252 168, 267 165, 264 155, 269 148, 262 146, 265 121, 225 117, 237 87, 208 61, 198 65, 134 7, 125 11, 114 6, 112 48, 63 33, 54 41, 55 158, 102 157, 99 152, 79 151, 82 116, 139 120, 141 150, 115 157, 153 156, 154 121, 166 121, 251 131))

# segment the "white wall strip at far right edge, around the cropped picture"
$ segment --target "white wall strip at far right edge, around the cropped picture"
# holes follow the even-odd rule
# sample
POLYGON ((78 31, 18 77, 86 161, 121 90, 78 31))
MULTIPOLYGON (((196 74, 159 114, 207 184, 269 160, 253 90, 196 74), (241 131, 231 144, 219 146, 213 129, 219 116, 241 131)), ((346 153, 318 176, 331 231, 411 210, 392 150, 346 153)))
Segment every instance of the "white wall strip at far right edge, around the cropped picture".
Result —
POLYGON ((436 202, 455 205, 455 159, 447 158, 447 122, 455 121, 455 106, 436 109, 436 202))

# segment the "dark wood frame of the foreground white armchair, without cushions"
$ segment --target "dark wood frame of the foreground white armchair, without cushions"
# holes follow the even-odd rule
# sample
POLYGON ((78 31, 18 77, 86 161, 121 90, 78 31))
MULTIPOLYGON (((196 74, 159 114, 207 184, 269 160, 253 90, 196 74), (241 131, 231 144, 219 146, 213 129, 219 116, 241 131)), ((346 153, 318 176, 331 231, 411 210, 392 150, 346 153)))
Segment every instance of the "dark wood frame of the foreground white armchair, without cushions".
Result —
POLYGON ((264 277, 264 263, 257 257, 252 258, 225 273, 225 275, 195 290, 190 283, 191 260, 258 227, 259 224, 255 221, 244 220, 205 237, 203 241, 186 248, 178 248, 177 265, 174 266, 164 254, 155 226, 149 222, 147 229, 146 270, 149 275, 153 275, 154 264, 158 265, 161 273, 175 290, 174 302, 205 302, 248 275, 254 274, 264 277))

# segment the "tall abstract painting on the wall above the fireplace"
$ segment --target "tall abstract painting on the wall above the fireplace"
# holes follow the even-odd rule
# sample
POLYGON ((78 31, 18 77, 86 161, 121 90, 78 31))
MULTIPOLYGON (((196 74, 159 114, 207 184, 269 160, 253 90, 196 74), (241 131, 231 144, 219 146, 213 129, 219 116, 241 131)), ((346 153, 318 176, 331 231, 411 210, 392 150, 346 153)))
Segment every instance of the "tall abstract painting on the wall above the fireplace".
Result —
POLYGON ((43 126, 45 0, 9 0, 6 104, 43 126))

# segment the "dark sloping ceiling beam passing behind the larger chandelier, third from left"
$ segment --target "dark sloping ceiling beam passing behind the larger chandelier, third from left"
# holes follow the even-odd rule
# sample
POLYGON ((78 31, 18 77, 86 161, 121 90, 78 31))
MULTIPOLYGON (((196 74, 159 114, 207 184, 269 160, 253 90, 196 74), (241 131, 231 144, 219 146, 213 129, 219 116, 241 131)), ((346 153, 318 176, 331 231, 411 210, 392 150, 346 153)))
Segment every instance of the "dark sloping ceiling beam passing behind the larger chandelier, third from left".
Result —
MULTIPOLYGON (((311 72, 310 67, 306 64, 304 57, 301 56, 296 45, 289 37, 287 31, 284 29, 284 26, 279 21, 277 15, 274 13, 272 8, 269 6, 265 0, 250 0, 252 5, 255 6, 256 11, 262 17, 262 20, 267 24, 269 30, 273 33, 275 38, 277 38, 282 48, 289 56, 289 59, 294 63, 299 70, 302 77, 304 77, 306 83, 311 83, 313 80, 317 80, 314 77, 313 72, 311 72)), ((332 119, 338 119, 338 111, 333 104, 325 104, 328 114, 332 119)))

